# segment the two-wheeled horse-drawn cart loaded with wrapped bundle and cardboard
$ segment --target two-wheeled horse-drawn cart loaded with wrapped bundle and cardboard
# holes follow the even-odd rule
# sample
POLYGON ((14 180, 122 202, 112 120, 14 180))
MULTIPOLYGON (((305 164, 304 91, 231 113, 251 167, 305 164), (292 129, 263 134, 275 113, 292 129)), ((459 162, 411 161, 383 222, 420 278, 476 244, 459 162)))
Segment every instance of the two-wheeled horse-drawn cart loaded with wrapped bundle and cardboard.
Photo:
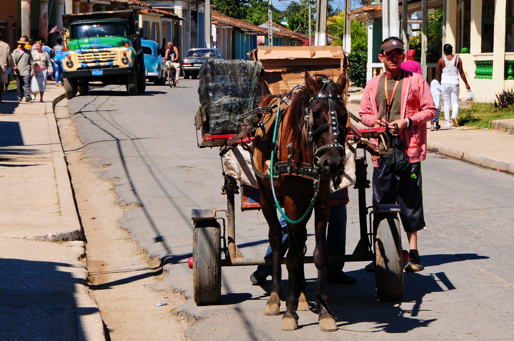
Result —
MULTIPOLYGON (((253 61, 213 61, 200 70, 198 92, 202 105, 195 118, 196 129, 201 131, 198 147, 219 147, 225 180, 222 193, 227 196, 227 209, 192 211, 190 267, 197 305, 215 304, 221 298, 222 267, 266 263, 264 258, 245 258, 235 238, 235 195, 241 194, 242 210, 260 208, 248 149, 252 132, 261 128, 263 117, 269 117, 273 108, 257 108, 259 99, 267 93, 290 92, 303 83, 305 71, 323 72, 334 80, 347 71, 340 47, 265 47, 251 53, 253 61)), ((346 91, 343 98, 347 100, 346 91)), ((356 131, 349 132, 347 137, 357 149, 354 188, 359 198, 360 240, 353 253, 342 258, 345 262, 374 261, 378 297, 397 300, 403 294, 399 209, 397 205, 368 206, 365 196, 370 181, 364 141, 378 137, 384 128, 354 127, 353 130, 356 131)), ((313 262, 313 256, 304 257, 304 263, 313 262)))

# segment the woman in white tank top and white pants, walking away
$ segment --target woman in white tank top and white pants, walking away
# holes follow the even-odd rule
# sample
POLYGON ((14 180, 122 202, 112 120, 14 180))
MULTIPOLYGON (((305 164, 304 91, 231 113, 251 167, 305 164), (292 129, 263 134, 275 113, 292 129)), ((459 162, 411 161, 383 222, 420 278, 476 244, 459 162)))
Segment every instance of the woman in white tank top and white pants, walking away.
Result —
POLYGON ((462 69, 462 61, 457 56, 453 55, 453 47, 450 44, 445 44, 443 47, 445 56, 440 58, 437 62, 436 72, 441 75, 441 94, 443 96, 444 113, 445 113, 445 127, 458 126, 458 93, 460 92, 458 84, 460 80, 458 75, 466 84, 466 89, 469 90, 469 84, 466 80, 466 74, 462 69), (452 106, 452 115, 450 116, 450 103, 452 106), (450 123, 451 122, 451 123, 450 123))

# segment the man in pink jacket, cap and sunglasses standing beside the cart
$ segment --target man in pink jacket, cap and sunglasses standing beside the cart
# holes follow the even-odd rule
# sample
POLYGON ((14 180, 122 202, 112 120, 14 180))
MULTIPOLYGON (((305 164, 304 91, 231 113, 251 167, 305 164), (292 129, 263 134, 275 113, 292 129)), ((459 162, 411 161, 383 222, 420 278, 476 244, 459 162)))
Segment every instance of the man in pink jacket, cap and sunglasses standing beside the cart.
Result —
POLYGON ((421 197, 421 161, 427 154, 426 123, 435 118, 437 110, 423 76, 400 68, 404 56, 403 43, 397 37, 382 42, 378 59, 386 72, 366 84, 359 115, 366 126, 386 126, 390 141, 399 137, 403 142, 403 154, 410 164, 401 172, 386 164, 392 152, 388 139, 376 142, 381 155, 372 157, 373 204, 400 205, 400 219, 410 247, 405 271, 414 272, 424 269, 417 250, 417 231, 426 226, 421 197), (385 115, 379 119, 380 107, 384 108, 385 115))

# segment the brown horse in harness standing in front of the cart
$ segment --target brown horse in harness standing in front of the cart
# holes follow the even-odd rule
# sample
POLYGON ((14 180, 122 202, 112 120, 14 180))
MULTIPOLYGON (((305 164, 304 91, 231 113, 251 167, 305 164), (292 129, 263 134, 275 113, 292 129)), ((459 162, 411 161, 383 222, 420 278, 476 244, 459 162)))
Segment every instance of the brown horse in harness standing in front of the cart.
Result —
MULTIPOLYGON (((296 311, 309 309, 304 295, 306 281, 303 257, 307 239, 306 224, 311 215, 309 205, 314 199, 314 262, 318 269, 316 302, 319 309, 319 324, 323 331, 337 330, 334 315, 328 309, 326 226, 331 205, 329 182, 331 178, 339 176, 344 168, 344 143, 349 123, 343 100, 346 77, 342 73, 335 83, 324 75, 315 77, 317 80, 306 72, 306 87, 298 90, 290 104, 283 109, 278 126, 278 156, 277 166, 274 168, 278 175, 274 177, 274 190, 283 197, 282 204, 290 220, 297 221, 307 212, 302 221, 287 223, 288 290, 286 311, 282 317, 283 330, 298 329, 296 311)), ((263 101, 269 102, 269 99, 270 97, 263 98, 263 101)), ((257 178, 261 207, 269 225, 272 249, 271 293, 266 303, 266 315, 280 314, 282 294, 282 235, 272 193, 268 161, 274 148, 273 121, 268 120, 265 129, 258 129, 253 142, 253 163, 259 175, 257 178)))

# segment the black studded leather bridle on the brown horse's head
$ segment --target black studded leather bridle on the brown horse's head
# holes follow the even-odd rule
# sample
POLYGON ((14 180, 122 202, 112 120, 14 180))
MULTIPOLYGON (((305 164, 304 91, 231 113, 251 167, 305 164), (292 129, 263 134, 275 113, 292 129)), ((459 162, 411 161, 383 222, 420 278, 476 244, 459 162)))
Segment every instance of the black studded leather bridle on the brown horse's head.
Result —
MULTIPOLYGON (((313 145, 313 157, 314 157, 314 165, 316 163, 319 164, 319 154, 327 149, 342 149, 344 151, 344 142, 339 143, 338 138, 341 136, 341 131, 346 130, 348 128, 348 122, 346 126, 340 124, 337 120, 337 112, 334 110, 334 101, 340 101, 344 104, 344 100, 340 94, 333 94, 331 91, 331 87, 328 84, 333 83, 332 80, 327 79, 326 77, 320 75, 322 77, 323 85, 318 92, 317 96, 311 97, 309 99, 309 108, 305 109, 305 120, 307 121, 307 132, 308 132, 308 141, 313 145), (325 93, 326 91, 326 93, 325 93), (313 107, 316 103, 322 99, 328 99, 328 112, 330 122, 323 124, 321 127, 313 130, 314 117, 313 117, 313 107), (329 129, 332 136, 334 137, 334 143, 324 144, 321 147, 316 147, 316 142, 314 141, 315 136, 318 135, 321 131, 329 129)), ((344 139, 344 136, 342 137, 344 139)))

